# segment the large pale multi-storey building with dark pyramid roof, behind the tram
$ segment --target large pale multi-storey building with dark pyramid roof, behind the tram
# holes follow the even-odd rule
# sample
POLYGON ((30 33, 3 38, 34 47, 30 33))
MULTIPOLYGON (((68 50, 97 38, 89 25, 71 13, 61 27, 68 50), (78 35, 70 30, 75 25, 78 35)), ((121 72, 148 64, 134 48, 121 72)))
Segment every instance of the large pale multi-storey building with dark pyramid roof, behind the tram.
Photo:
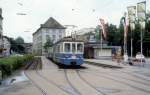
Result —
POLYGON ((57 22, 54 18, 50 17, 40 28, 33 33, 33 53, 44 55, 44 44, 48 39, 53 43, 65 37, 65 27, 57 22))

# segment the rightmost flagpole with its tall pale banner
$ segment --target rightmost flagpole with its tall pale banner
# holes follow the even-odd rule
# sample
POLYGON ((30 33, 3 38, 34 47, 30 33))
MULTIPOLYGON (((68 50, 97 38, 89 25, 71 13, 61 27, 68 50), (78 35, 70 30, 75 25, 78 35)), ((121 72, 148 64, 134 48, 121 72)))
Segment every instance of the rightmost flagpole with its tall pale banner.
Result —
POLYGON ((143 32, 145 29, 145 20, 146 20, 146 1, 137 3, 137 17, 141 29, 141 63, 143 55, 143 32))

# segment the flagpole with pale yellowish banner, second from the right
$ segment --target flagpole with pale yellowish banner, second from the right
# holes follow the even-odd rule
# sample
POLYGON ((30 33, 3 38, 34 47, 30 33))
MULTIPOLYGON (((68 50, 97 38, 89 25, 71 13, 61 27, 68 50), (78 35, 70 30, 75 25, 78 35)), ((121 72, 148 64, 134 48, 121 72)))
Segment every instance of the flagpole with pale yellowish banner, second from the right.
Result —
POLYGON ((136 18, 136 6, 127 7, 128 20, 131 29, 131 59, 133 56, 133 30, 135 29, 135 18, 136 18))

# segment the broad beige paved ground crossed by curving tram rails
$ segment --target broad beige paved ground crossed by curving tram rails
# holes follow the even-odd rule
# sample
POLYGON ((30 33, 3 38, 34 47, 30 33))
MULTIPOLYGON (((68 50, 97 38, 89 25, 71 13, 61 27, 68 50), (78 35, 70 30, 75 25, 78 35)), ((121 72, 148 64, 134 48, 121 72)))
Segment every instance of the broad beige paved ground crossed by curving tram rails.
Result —
POLYGON ((150 95, 150 60, 121 69, 83 64, 59 68, 42 57, 42 70, 29 70, 30 81, 13 85, 4 95, 150 95))

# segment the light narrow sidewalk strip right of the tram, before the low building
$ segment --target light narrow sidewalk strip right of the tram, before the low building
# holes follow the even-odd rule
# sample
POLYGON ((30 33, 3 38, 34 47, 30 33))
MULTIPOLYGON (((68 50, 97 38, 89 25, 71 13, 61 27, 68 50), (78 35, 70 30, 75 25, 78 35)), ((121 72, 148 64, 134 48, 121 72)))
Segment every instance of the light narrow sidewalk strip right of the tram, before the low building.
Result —
POLYGON ((122 62, 120 62, 119 64, 116 61, 103 60, 103 59, 84 59, 84 62, 92 65, 98 65, 98 66, 109 67, 109 68, 123 68, 125 66, 125 64, 123 64, 122 62))

